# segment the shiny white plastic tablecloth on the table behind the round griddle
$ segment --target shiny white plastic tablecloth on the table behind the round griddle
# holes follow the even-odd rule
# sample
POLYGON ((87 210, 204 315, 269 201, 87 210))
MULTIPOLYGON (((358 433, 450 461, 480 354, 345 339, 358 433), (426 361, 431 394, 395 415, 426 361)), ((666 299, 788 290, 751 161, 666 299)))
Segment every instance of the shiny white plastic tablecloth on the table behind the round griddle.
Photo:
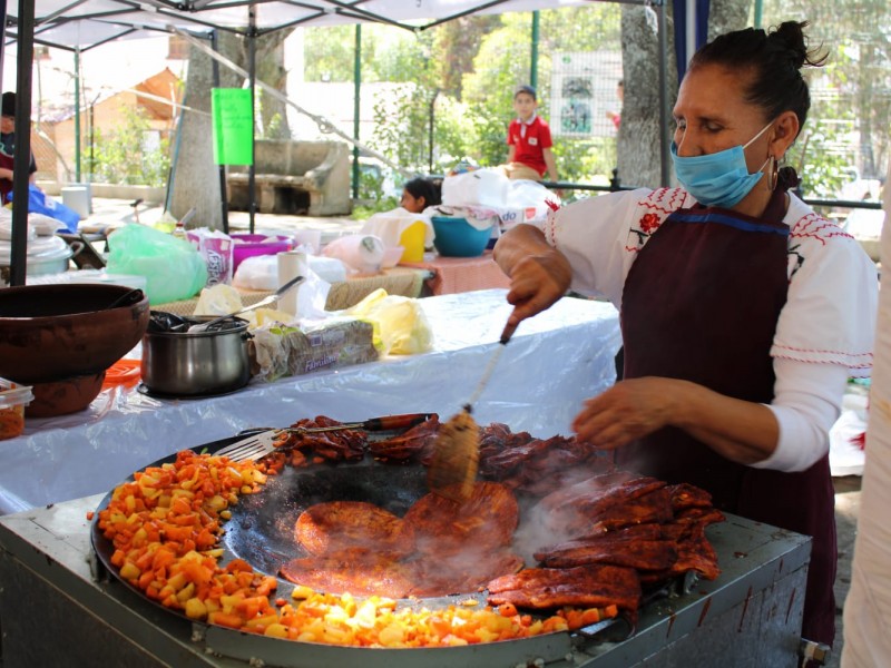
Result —
MULTIPOLYGON (((421 299, 434 333, 422 355, 252 383, 200 400, 157 400, 104 391, 80 413, 28 420, 0 441, 0 512, 108 491, 167 454, 252 426, 438 412, 467 403, 498 344, 510 306, 492 289, 421 299)), ((523 322, 474 404, 480 424, 503 422, 537 436, 568 434, 581 401, 615 380, 618 316, 603 302, 567 297, 523 322)))

